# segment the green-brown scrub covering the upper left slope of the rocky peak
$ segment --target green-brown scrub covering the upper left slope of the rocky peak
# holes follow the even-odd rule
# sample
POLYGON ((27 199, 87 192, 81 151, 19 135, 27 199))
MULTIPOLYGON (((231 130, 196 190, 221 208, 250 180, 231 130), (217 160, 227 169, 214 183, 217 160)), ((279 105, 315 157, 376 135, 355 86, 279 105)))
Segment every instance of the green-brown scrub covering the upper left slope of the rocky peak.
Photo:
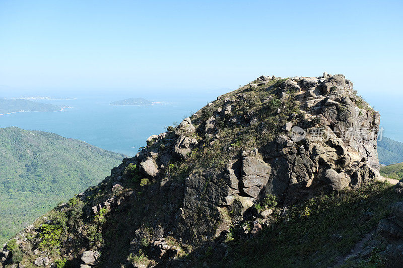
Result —
MULTIPOLYGON (((282 133, 282 127, 289 121, 296 123, 299 120, 299 105, 294 101, 295 93, 288 92, 290 98, 281 99, 280 85, 286 79, 270 81, 264 85, 250 87, 242 86, 238 90, 225 94, 211 106, 206 106, 191 116, 196 128, 214 115, 214 111, 222 108, 226 99, 237 99, 231 102, 231 112, 223 119, 216 118, 218 125, 218 138, 211 145, 193 149, 188 161, 172 163, 168 167, 167 176, 183 180, 190 170, 203 170, 206 168, 221 168, 229 159, 240 151, 256 148, 271 142, 282 133), (278 114, 278 109, 282 112, 278 114), (259 124, 250 126, 249 118, 244 115, 253 114, 259 124), (295 118, 290 120, 289 118, 295 118), (232 121, 231 121, 232 120, 232 121), (191 164, 189 164, 191 163, 191 164)), ((203 127, 203 126, 201 126, 203 127)), ((195 137, 200 139, 200 137, 195 137)), ((213 137, 204 137, 209 144, 213 137)))

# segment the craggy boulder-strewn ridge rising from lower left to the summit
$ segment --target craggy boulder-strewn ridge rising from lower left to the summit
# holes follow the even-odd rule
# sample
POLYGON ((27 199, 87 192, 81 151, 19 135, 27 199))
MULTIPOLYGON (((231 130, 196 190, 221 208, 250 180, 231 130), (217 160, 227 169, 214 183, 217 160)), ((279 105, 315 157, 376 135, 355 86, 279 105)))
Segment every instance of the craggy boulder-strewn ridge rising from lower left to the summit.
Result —
POLYGON ((257 237, 301 202, 376 181, 379 120, 342 74, 260 76, 40 217, 4 245, 0 267, 222 260, 235 228, 257 237))

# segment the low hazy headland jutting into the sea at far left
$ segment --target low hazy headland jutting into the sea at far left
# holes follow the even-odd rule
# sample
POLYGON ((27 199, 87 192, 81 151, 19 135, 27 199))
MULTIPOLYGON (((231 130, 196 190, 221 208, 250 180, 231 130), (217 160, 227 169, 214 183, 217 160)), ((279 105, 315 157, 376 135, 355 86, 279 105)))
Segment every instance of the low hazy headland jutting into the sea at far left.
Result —
POLYGON ((61 107, 52 104, 37 103, 22 99, 0 99, 0 115, 16 112, 54 112, 61 109, 61 107))

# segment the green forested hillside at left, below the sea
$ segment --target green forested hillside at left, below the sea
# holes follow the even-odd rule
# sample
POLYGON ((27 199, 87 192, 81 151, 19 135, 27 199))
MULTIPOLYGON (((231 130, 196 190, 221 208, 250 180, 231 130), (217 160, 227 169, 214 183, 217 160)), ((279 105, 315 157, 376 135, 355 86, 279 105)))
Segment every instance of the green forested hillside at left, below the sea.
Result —
POLYGON ((0 243, 58 202, 95 185, 122 155, 83 141, 0 129, 0 243))

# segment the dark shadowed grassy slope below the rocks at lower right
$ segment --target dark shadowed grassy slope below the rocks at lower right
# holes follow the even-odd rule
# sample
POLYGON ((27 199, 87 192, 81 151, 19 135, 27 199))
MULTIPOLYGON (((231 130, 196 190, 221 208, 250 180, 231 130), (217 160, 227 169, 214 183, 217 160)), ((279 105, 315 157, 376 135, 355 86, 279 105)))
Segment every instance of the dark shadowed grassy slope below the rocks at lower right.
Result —
MULTIPOLYGON (((346 191, 339 195, 322 195, 290 208, 285 221, 275 218, 260 236, 238 238, 243 229, 231 230, 226 240, 229 254, 217 266, 246 267, 329 267, 337 257, 345 256, 361 238, 389 216, 389 205, 403 198, 388 183, 346 191), (360 222, 365 212, 374 216, 360 222), (225 263, 225 265, 224 265, 225 263)), ((242 224, 241 226, 243 226, 242 224)), ((367 266, 379 260, 374 252, 367 266)), ((201 258, 201 262, 209 258, 201 258)), ((379 264, 379 263, 378 263, 379 264)), ((210 265, 210 264, 209 264, 210 265)))

